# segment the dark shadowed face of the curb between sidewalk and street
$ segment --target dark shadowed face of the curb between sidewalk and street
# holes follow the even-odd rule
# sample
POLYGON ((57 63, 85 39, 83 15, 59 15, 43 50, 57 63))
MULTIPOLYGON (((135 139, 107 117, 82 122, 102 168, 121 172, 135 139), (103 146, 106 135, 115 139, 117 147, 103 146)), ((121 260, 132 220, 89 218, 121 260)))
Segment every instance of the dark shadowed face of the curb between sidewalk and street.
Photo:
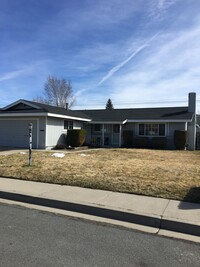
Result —
POLYGON ((49 208, 78 212, 82 214, 93 215, 97 217, 103 217, 128 223, 134 223, 162 230, 179 232, 183 234, 200 236, 200 226, 190 223, 169 220, 167 218, 162 218, 161 216, 147 216, 127 211, 112 210, 104 207, 65 202, 61 200, 47 199, 42 197, 28 196, 4 191, 0 191, 0 198, 49 208))

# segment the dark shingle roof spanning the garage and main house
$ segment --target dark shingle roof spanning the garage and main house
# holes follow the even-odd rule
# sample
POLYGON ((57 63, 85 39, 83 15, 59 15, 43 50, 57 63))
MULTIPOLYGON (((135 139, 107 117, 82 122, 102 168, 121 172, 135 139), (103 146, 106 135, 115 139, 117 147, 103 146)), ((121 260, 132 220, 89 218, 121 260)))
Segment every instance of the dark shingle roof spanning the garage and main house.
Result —
MULTIPOLYGON (((188 121, 192 119, 193 113, 188 112, 188 107, 163 107, 163 108, 135 108, 135 109, 100 109, 100 110, 66 110, 38 102, 19 100, 17 103, 30 105, 24 108, 17 108, 17 104, 1 109, 2 113, 53 113, 73 118, 82 118, 95 122, 122 123, 125 120, 131 121, 188 121)), ((200 117, 200 116, 199 116, 200 117)), ((200 120, 200 119, 198 119, 200 120)))

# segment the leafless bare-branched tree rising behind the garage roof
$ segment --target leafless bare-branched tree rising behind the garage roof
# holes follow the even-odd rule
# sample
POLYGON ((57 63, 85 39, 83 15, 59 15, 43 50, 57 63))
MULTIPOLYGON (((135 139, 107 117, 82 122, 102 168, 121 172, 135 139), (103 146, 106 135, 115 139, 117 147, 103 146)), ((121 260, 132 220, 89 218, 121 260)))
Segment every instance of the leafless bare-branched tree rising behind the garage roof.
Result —
POLYGON ((66 107, 66 103, 70 108, 75 102, 70 81, 59 80, 54 76, 49 76, 45 82, 44 97, 37 97, 33 100, 63 108, 66 107))

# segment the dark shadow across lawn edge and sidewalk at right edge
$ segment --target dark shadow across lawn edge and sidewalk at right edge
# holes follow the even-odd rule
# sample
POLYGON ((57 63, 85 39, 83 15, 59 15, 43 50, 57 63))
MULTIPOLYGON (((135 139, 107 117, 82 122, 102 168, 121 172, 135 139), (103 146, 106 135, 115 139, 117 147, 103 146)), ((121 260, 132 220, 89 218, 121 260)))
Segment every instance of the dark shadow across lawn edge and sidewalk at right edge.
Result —
POLYGON ((188 193, 183 198, 183 202, 180 203, 179 209, 199 209, 200 204, 200 187, 191 187, 188 193), (193 202, 193 203, 191 203, 193 202), (194 204, 197 205, 194 205, 194 204))

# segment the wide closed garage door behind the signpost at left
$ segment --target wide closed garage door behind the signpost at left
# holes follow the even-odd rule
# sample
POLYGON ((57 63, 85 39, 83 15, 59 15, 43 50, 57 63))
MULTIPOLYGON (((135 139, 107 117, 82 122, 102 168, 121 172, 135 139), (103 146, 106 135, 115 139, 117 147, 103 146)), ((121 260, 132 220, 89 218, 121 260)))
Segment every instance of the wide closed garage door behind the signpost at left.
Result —
POLYGON ((28 148, 29 123, 33 123, 33 148, 37 148, 36 120, 0 120, 0 146, 28 148))

